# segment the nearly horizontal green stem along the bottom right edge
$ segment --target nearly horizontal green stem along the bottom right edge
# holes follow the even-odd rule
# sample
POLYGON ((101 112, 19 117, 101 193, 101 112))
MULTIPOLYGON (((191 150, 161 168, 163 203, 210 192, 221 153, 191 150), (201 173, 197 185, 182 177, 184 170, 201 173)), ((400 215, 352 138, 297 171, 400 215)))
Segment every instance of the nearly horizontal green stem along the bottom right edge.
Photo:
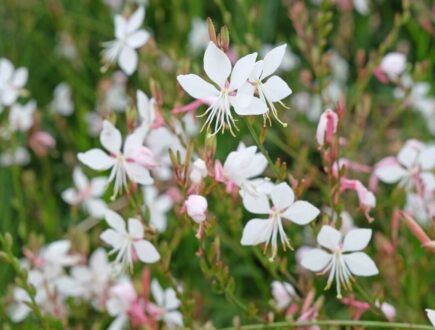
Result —
MULTIPOLYGON (((276 322, 270 324, 251 324, 240 326, 238 329, 255 330, 255 329, 293 329, 294 327, 310 327, 310 326, 349 326, 349 327, 367 327, 368 329, 423 329, 433 330, 430 325, 411 324, 411 323, 394 323, 382 321, 354 321, 354 320, 322 320, 308 322, 276 322)), ((323 328, 323 327, 322 327, 323 328)), ((221 330, 233 330, 234 327, 221 330)), ((324 329, 324 328, 323 328, 324 329)))

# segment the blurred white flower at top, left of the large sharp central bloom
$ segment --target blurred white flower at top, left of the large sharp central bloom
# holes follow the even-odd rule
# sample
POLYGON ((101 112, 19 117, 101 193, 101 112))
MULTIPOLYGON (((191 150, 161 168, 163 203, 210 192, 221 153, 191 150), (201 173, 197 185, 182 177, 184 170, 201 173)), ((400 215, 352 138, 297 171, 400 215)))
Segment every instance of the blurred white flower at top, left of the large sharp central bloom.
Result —
POLYGON ((128 19, 115 15, 116 40, 104 43, 103 56, 108 63, 118 61, 121 69, 131 75, 137 68, 136 49, 146 44, 149 33, 140 29, 145 16, 144 7, 140 6, 128 19))

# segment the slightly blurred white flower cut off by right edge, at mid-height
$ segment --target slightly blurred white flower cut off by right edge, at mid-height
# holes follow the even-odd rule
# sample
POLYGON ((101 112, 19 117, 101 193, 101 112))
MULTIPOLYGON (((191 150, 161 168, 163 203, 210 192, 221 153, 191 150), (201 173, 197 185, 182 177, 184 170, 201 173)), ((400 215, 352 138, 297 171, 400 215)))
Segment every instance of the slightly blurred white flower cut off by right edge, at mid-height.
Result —
POLYGON ((427 189, 435 188, 435 146, 425 146, 414 140, 408 141, 397 155, 397 160, 381 161, 375 175, 385 183, 399 182, 407 189, 421 180, 427 189))

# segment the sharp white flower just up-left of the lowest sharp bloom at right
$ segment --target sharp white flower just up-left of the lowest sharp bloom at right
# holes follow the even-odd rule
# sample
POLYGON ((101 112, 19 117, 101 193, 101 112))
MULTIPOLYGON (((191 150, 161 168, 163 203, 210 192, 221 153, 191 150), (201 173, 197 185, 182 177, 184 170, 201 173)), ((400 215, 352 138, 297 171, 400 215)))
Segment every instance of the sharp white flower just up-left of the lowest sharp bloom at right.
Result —
POLYGON ((242 245, 257 245, 266 243, 272 246, 272 259, 278 250, 278 236, 285 249, 291 248, 290 242, 284 231, 282 218, 298 225, 306 225, 319 215, 319 210, 305 201, 295 201, 293 190, 283 182, 274 186, 270 192, 272 207, 269 198, 263 195, 255 199, 254 203, 250 200, 244 201, 245 208, 252 213, 268 214, 268 219, 252 219, 243 229, 241 240, 242 245))

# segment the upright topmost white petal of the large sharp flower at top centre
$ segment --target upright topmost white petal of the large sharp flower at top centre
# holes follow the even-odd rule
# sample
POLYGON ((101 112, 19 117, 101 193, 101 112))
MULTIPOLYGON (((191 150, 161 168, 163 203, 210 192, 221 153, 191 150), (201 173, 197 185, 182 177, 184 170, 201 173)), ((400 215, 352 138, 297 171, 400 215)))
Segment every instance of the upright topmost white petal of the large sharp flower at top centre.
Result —
POLYGON ((204 53, 204 71, 221 88, 231 73, 230 59, 213 42, 208 44, 204 53))

